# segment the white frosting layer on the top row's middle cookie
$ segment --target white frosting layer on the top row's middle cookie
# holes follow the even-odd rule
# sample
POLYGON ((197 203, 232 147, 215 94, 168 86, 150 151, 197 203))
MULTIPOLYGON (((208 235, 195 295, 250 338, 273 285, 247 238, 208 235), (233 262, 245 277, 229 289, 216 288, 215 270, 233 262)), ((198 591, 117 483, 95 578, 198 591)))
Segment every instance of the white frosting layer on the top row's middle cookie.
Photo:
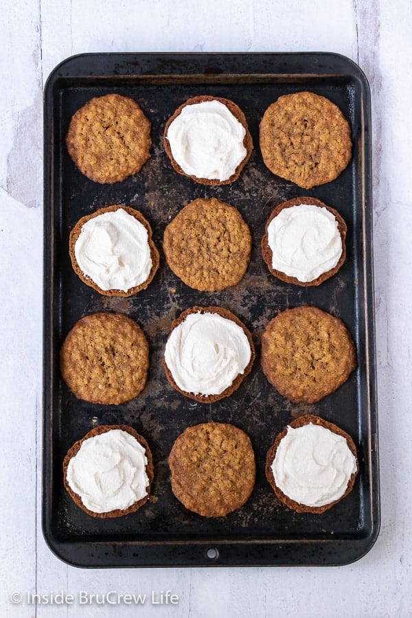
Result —
POLYGON ((220 101, 183 107, 166 135, 176 163, 188 176, 225 181, 247 155, 244 126, 220 101))

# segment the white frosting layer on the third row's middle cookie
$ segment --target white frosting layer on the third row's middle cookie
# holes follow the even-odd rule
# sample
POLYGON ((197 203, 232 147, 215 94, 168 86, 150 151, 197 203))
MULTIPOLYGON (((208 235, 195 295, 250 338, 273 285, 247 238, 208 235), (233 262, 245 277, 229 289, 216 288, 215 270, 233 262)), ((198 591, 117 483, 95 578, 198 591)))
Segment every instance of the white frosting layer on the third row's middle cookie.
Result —
POLYGON ((220 395, 250 360, 244 330, 217 313, 188 314, 165 347, 165 363, 176 385, 194 395, 220 395))

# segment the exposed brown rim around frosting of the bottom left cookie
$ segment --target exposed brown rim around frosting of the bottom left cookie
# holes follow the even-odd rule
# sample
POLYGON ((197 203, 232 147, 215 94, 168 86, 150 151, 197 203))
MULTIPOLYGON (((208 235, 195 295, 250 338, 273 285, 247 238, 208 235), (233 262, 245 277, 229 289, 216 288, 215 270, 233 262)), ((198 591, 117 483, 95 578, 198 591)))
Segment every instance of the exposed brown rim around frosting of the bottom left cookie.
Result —
MULTIPOLYGON (((99 470, 96 470, 96 472, 99 472, 99 470)), ((78 440, 78 442, 75 442, 75 444, 73 444, 71 448, 69 448, 69 450, 67 451, 67 455, 65 456, 65 459, 63 460, 63 480, 65 483, 65 488, 67 492, 69 492, 73 501, 82 510, 84 510, 87 514, 91 515, 92 517, 99 517, 99 518, 121 517, 123 515, 128 515, 129 513, 134 513, 135 511, 137 511, 142 505, 144 505, 144 503, 148 501, 148 498, 150 496, 150 488, 152 485, 153 476, 154 476, 154 470, 153 470, 152 453, 150 451, 148 443, 146 442, 146 439, 143 436, 139 435, 137 431, 133 429, 133 427, 130 427, 128 425, 100 425, 98 427, 95 427, 94 429, 89 431, 84 437, 82 437, 82 439, 78 440), (101 435, 102 433, 106 433, 108 431, 113 431, 114 429, 126 431, 126 433, 133 436, 137 440, 137 442, 139 442, 139 444, 141 444, 141 446, 143 446, 145 449, 146 459, 148 460, 148 463, 145 466, 145 470, 146 470, 146 474, 148 476, 148 481, 149 481, 149 484, 146 487, 147 495, 137 500, 135 503, 131 504, 129 507, 125 509, 115 509, 115 510, 106 511, 103 513, 98 513, 95 511, 91 511, 89 508, 87 508, 84 505, 81 496, 72 490, 72 488, 69 485, 69 482, 67 481, 67 467, 69 466, 69 461, 75 455, 78 454, 80 447, 82 446, 85 440, 95 437, 97 435, 101 435)))

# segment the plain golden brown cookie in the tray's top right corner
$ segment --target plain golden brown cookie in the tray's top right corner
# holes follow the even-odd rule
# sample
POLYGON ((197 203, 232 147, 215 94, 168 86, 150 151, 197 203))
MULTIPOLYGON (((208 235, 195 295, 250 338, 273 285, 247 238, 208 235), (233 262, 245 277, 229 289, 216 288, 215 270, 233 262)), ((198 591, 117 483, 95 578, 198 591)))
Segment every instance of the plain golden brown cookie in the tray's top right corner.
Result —
POLYGON ((347 167, 350 124, 325 97, 284 95, 268 106, 260 122, 260 150, 273 174, 310 189, 330 183, 347 167))

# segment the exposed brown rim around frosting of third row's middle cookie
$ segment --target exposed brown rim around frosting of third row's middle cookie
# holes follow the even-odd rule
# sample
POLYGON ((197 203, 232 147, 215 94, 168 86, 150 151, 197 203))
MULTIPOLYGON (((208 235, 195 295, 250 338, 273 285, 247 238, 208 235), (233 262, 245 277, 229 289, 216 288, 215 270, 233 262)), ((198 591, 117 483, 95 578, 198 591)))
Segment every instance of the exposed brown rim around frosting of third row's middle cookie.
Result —
POLYGON ((176 382, 174 381, 174 378, 172 376, 172 372, 170 371, 166 361, 165 361, 165 354, 163 351, 163 359, 162 359, 162 363, 163 363, 163 368, 165 369, 165 374, 166 374, 166 378, 168 378, 168 381, 170 382, 170 385, 172 385, 172 387, 174 389, 176 389, 176 391, 179 391, 179 393, 181 393, 182 395, 184 395, 185 397, 188 397, 190 399, 194 399, 195 401, 201 402, 201 403, 214 403, 215 401, 218 401, 220 399, 224 399, 225 397, 229 397, 231 396, 239 387, 240 384, 243 382, 244 378, 246 378, 252 369, 253 363, 255 361, 255 346, 253 345, 253 339, 252 339, 252 335, 251 332, 249 331, 249 329, 247 328, 247 326, 244 325, 244 323, 234 314, 232 313, 229 309, 225 309, 222 307, 200 307, 200 306, 194 306, 194 307, 190 307, 188 309, 185 309, 178 318, 176 318, 173 322, 172 322, 172 326, 170 327, 170 332, 168 335, 168 339, 170 337, 170 335, 172 334, 172 330, 174 330, 174 328, 176 328, 176 326, 178 326, 180 323, 182 323, 183 321, 185 321, 186 317, 188 315, 190 315, 191 313, 217 313, 218 315, 220 315, 221 317, 224 317, 226 319, 229 319, 233 322, 235 322, 238 326, 240 326, 240 328, 242 328, 244 334, 247 336, 247 340, 249 341, 249 345, 251 348, 251 358, 249 363, 247 364, 247 366, 244 368, 244 371, 242 374, 238 374, 236 376, 236 378, 233 380, 233 382, 231 383, 231 385, 229 387, 227 387, 227 389, 225 389, 224 391, 222 391, 222 393, 220 393, 219 395, 195 395, 194 393, 188 393, 187 391, 182 391, 181 389, 179 389, 178 385, 176 385, 176 382))

